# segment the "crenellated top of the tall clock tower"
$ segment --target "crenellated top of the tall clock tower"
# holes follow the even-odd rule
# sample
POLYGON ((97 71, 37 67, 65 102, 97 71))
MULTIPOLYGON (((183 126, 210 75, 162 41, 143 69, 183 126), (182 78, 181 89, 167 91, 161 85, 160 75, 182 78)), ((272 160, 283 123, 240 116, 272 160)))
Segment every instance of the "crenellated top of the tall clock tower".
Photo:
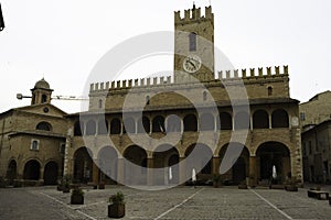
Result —
POLYGON ((199 20, 212 20, 214 21, 214 14, 212 12, 212 7, 205 7, 205 15, 201 15, 201 8, 195 8, 193 4, 193 9, 184 10, 184 18, 181 16, 180 11, 174 12, 174 24, 182 24, 190 21, 199 21, 199 20))

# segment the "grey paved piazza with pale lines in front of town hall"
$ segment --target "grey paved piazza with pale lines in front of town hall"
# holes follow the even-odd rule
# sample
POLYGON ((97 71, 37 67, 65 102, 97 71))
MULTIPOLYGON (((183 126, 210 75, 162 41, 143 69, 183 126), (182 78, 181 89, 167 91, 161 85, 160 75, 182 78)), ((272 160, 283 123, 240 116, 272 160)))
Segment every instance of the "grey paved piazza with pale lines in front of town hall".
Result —
MULTIPOLYGON (((121 190, 126 196, 124 219, 330 219, 328 200, 277 189, 235 187, 177 187, 141 191, 127 187, 84 189, 85 205, 70 205, 70 194, 55 187, 0 189, 0 219, 109 219, 107 199, 121 190)), ((328 189, 329 190, 329 189, 328 189)))

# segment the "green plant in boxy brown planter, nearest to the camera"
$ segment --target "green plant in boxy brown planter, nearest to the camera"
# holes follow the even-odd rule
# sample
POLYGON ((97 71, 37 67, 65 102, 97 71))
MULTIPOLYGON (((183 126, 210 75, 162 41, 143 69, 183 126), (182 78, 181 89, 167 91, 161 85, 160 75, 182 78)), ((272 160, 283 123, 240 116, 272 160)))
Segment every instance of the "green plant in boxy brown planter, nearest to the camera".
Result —
POLYGON ((109 197, 108 205, 108 217, 109 218, 122 218, 125 216, 126 207, 125 207, 125 196, 121 191, 117 191, 116 194, 109 197))

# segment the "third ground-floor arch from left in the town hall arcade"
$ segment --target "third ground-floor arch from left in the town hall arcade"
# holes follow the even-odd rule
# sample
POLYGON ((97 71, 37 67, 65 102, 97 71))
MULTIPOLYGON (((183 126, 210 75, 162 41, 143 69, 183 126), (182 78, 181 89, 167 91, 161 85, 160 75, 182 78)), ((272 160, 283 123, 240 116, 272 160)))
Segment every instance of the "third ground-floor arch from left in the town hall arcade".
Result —
POLYGON ((147 184, 147 153, 137 145, 129 146, 124 153, 125 185, 147 184))

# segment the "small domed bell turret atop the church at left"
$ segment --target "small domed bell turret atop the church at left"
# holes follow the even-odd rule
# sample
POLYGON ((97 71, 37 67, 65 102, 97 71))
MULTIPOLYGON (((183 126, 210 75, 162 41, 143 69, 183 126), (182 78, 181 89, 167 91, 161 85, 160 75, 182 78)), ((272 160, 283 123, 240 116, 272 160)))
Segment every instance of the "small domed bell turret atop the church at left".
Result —
POLYGON ((36 81, 34 88, 31 89, 31 105, 51 103, 52 91, 53 89, 50 88, 50 84, 44 78, 36 81))

